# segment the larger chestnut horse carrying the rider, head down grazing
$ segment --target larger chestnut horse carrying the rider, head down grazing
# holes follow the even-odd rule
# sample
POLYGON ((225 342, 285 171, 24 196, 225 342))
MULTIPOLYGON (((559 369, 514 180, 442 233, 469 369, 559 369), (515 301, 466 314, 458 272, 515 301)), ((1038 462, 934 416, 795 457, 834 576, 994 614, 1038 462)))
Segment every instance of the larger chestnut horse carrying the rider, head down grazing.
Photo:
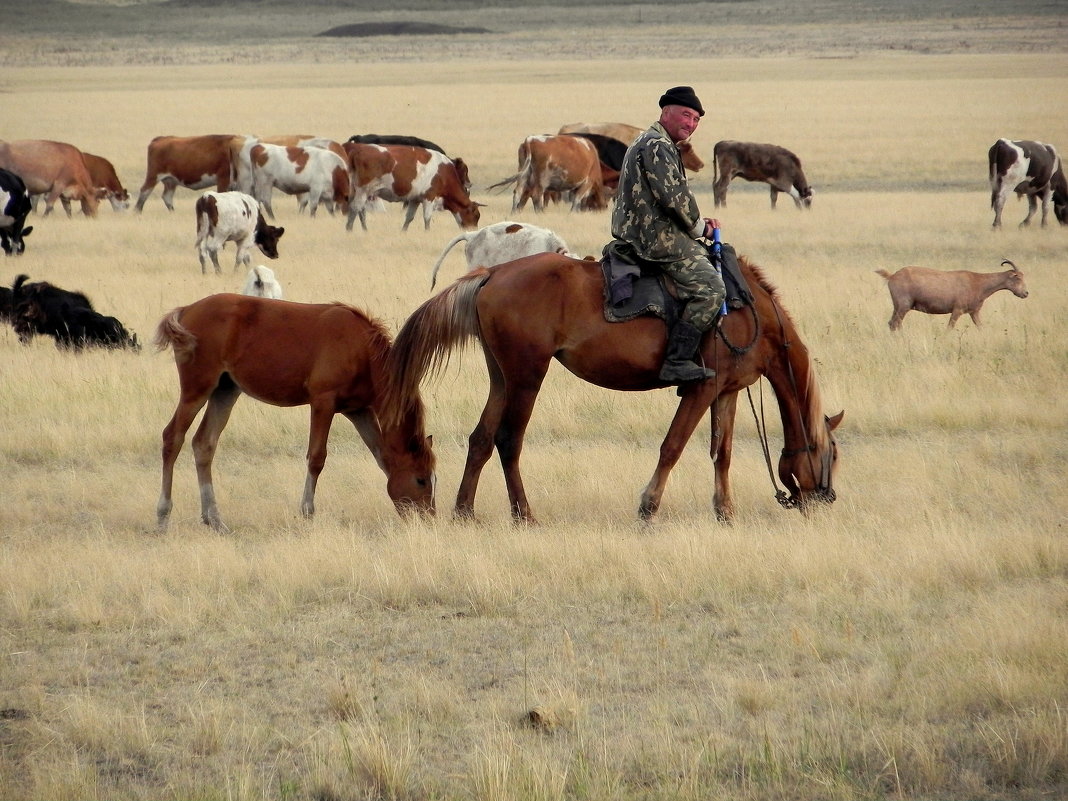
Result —
MULTIPOLYGON (((810 501, 834 500, 837 446, 832 431, 843 415, 824 417, 808 349, 761 271, 744 258, 740 264, 754 304, 728 314, 717 334, 705 336, 702 354, 717 376, 679 390, 681 400, 660 460, 642 492, 643 519, 656 515, 668 475, 710 406, 714 508, 720 519, 733 517, 727 474, 737 393, 760 376, 774 390, 783 423, 779 476, 790 496, 780 492, 780 502, 803 508, 810 501)), ((478 476, 496 446, 514 519, 534 522, 519 456, 552 359, 598 387, 637 391, 665 386, 658 378, 666 344, 663 320, 608 323, 603 302, 600 264, 543 253, 467 273, 424 302, 402 327, 389 357, 395 413, 418 403, 420 381, 447 362, 452 348, 477 337, 485 351, 489 398, 468 441, 456 496, 458 517, 473 516, 478 476)))

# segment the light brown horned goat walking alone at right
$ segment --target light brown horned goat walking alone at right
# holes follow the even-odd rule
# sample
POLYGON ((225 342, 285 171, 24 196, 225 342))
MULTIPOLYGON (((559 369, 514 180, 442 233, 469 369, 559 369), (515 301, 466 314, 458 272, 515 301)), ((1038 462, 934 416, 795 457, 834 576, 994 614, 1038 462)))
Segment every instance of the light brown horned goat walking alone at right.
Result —
POLYGON ((1009 265, 1011 269, 1004 272, 971 272, 902 267, 893 274, 886 270, 876 270, 886 279, 890 297, 894 301, 890 330, 899 329, 901 318, 913 310, 925 314, 948 314, 949 328, 956 325, 960 315, 967 313, 978 326, 983 301, 999 289, 1008 289, 1018 298, 1027 297, 1023 273, 1007 258, 1002 264, 1009 265))

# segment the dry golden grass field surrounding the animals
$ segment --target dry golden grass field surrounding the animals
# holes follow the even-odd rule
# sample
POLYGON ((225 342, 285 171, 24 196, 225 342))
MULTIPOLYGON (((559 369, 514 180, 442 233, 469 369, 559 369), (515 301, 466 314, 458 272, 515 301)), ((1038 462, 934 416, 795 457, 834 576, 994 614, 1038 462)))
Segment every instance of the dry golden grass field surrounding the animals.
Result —
MULTIPOLYGON (((737 5, 747 19, 782 11, 737 5)), ((180 47, 168 50, 132 23, 67 40, 32 14, 0 32, 0 138, 104 155, 135 195, 159 134, 406 132, 468 161, 484 223, 513 216, 511 195, 485 187, 515 171, 523 137, 579 120, 643 125, 664 88, 691 83, 709 108, 694 137, 706 160, 719 139, 775 142, 816 187, 811 210, 787 201, 772 211, 766 188, 735 184, 717 216, 780 287, 828 411, 846 410, 833 506, 810 517, 778 506, 743 402, 735 523, 711 511, 705 423, 660 517, 640 527, 674 394, 611 393, 553 368, 523 453, 541 524, 511 524, 496 462, 478 520, 457 522, 449 513, 487 386, 468 352, 424 388, 435 520, 396 517, 343 420, 318 516, 301 519, 307 410, 245 399, 216 459, 232 531, 201 525, 187 446, 159 535, 170 354, 72 355, 4 329, 0 799, 1068 795, 1068 234, 1018 230, 1015 202, 991 231, 986 179, 998 137, 1068 147, 1068 54, 1050 44, 1064 19, 1038 6, 1046 22, 1027 34, 1038 51, 1021 54, 1011 32, 1024 17, 999 34, 981 4, 976 30, 1000 47, 924 53, 886 46, 900 26, 839 18, 858 34, 843 54, 819 16, 835 7, 790 20, 789 50, 759 57, 689 46, 666 58, 680 29, 627 28, 632 38, 611 48, 637 57, 564 58, 588 34, 560 22, 546 23, 557 47, 548 59, 518 26, 497 50, 457 53, 467 37, 436 37, 398 58, 405 43, 360 42, 348 60, 339 43, 280 36, 277 58, 241 42, 226 61, 221 42, 170 33, 180 47), (94 41, 114 47, 100 53, 94 41), (21 47, 49 56, 12 64, 21 47), (983 328, 913 313, 888 330, 874 270, 993 271, 1002 258, 1031 295, 992 296, 983 328)), ((670 26, 686 9, 670 10, 670 26)), ((964 25, 961 13, 928 30, 964 25)), ((327 6, 299 25, 320 20, 356 21, 327 6)), ((786 21, 752 25, 764 41, 786 21)), ((710 214, 710 168, 692 182, 710 214)), ((170 309, 244 282, 229 271, 232 246, 222 276, 201 274, 194 197, 179 190, 173 214, 157 189, 140 216, 105 205, 92 220, 35 217, 0 282, 26 272, 81 289, 147 343, 170 309)), ((337 218, 298 216, 292 199, 276 195, 274 208, 286 234, 270 266, 286 297, 350 302, 392 331, 429 296, 430 268, 457 233, 444 214, 402 233, 394 207, 347 233, 337 218)), ((608 237, 604 214, 518 217, 583 253, 608 237)), ((457 249, 441 277, 462 269, 457 249)), ((774 449, 767 387, 764 399, 774 449)))

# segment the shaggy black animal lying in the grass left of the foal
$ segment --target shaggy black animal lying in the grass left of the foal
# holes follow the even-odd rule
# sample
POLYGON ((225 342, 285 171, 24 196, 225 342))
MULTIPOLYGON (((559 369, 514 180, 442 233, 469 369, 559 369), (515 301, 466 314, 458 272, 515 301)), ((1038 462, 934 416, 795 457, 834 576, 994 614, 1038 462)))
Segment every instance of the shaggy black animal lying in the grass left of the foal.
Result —
POLYGON ((35 334, 56 340, 56 347, 81 350, 84 347, 131 348, 140 350, 131 334, 114 317, 100 314, 80 292, 69 292, 47 281, 27 283, 19 276, 11 288, 12 325, 27 344, 35 334))

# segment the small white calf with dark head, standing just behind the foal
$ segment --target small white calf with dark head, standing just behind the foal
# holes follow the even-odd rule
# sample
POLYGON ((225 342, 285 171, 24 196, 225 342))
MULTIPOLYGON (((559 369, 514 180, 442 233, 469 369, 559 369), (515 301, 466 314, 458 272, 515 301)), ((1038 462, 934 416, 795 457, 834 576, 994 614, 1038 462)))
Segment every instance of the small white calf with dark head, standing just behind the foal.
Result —
POLYGON ((219 251, 226 242, 237 244, 234 269, 252 261, 252 246, 260 248, 268 258, 278 258, 278 240, 284 227, 268 225, 256 199, 245 192, 204 192, 197 199, 197 253, 201 272, 207 272, 207 257, 211 257, 216 273, 219 269, 219 251))

